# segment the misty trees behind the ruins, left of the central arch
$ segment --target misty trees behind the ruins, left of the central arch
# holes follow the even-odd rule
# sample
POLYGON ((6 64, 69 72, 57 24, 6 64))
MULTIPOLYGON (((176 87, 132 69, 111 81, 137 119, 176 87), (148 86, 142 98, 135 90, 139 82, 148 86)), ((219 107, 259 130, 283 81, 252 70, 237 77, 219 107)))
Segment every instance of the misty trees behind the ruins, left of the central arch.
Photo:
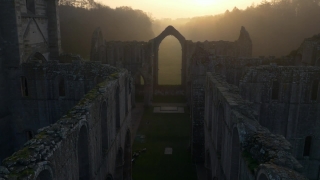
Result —
POLYGON ((93 3, 88 8, 65 3, 60 5, 59 13, 62 49, 86 59, 90 54, 92 33, 98 27, 107 41, 148 41, 154 37, 151 18, 130 7, 112 9, 93 3))

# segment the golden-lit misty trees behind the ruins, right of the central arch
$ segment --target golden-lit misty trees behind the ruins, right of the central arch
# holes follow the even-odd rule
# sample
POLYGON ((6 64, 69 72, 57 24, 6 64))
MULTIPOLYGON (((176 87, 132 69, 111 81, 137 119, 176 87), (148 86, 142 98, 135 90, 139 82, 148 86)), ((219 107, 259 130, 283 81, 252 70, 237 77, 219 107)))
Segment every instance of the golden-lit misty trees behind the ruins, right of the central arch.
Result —
MULTIPOLYGON (((297 49, 305 38, 320 33, 320 0, 264 0, 245 10, 235 7, 220 15, 194 17, 184 25, 170 23, 179 25, 177 29, 193 41, 234 41, 240 27, 245 26, 254 56, 283 56, 297 49)), ((157 22, 154 29, 160 25, 157 22)))

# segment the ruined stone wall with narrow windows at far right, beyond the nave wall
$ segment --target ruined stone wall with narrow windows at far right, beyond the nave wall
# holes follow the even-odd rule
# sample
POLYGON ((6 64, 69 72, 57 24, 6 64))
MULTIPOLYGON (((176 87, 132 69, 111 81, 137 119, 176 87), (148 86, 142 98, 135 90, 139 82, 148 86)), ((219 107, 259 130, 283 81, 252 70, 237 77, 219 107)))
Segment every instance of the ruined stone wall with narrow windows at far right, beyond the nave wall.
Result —
POLYGON ((240 82, 240 94, 254 104, 259 123, 293 145, 309 179, 317 179, 320 169, 319 77, 319 67, 271 65, 251 68, 240 82))

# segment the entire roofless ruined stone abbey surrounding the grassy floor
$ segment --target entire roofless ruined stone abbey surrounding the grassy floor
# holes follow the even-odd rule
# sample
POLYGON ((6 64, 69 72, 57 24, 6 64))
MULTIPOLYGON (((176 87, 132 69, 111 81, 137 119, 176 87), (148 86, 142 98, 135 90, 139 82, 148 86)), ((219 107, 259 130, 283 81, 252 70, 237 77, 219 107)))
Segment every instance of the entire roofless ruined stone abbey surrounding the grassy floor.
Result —
POLYGON ((320 179, 320 34, 276 59, 251 57, 244 27, 234 42, 193 42, 172 26, 108 42, 97 28, 84 61, 61 50, 58 0, 0 9, 0 180, 131 180, 136 94, 145 106, 187 98, 192 158, 208 180, 320 179), (158 84, 169 35, 182 50, 170 87, 158 84))

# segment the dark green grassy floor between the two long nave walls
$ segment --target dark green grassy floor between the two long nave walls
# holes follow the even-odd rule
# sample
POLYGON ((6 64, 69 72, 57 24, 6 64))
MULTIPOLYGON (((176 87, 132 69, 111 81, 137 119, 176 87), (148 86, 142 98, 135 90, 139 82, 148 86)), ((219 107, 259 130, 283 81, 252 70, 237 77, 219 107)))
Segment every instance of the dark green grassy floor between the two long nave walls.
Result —
POLYGON ((191 161, 191 120, 188 114, 154 114, 147 109, 140 122, 133 152, 147 148, 133 164, 133 180, 194 180, 195 166, 191 161), (164 149, 171 147, 172 155, 164 149))

